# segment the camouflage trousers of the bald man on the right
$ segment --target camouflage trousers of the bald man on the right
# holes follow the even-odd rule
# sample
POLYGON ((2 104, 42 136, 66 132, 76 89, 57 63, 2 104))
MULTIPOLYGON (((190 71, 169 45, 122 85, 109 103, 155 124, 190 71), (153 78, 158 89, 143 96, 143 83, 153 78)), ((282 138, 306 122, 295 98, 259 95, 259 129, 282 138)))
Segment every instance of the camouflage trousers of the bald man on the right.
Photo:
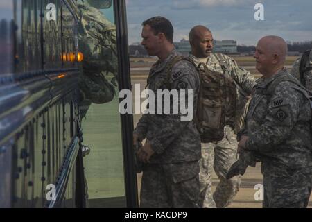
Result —
POLYGON ((306 208, 311 194, 311 178, 306 169, 262 162, 263 208, 306 208))

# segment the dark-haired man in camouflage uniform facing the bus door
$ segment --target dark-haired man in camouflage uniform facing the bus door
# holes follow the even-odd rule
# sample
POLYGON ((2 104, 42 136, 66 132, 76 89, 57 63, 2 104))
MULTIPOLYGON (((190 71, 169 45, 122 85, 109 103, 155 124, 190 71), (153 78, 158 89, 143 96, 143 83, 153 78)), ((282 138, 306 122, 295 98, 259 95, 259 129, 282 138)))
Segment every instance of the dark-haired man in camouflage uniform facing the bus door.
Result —
MULTIPOLYGON (((159 60, 150 69, 148 89, 156 95, 159 89, 193 90, 196 110, 199 78, 192 63, 180 60, 173 46, 173 26, 164 17, 152 17, 142 24, 141 44, 148 55, 159 60), (178 62, 177 60, 180 60, 178 62), (172 75, 171 75, 172 74, 172 75)), ((189 97, 187 98, 189 99, 189 97)), ((166 104, 170 105, 170 104, 166 104)), ((155 105, 155 108, 157 105, 155 105)), ((181 112, 143 114, 133 133, 139 146, 137 160, 142 167, 140 207, 198 207, 200 182, 200 136, 193 121, 181 121, 181 112)))

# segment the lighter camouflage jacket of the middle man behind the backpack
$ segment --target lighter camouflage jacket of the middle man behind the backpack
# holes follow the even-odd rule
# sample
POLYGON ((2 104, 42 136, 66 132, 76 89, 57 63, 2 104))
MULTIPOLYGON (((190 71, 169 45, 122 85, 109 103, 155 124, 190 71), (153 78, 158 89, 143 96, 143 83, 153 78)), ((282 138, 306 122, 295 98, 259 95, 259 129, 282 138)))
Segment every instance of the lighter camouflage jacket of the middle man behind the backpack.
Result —
MULTIPOLYGON (((198 66, 200 63, 198 58, 189 54, 189 58, 198 66)), ((207 60, 207 68, 213 71, 224 73, 223 67, 227 69, 227 72, 232 80, 235 81, 236 87, 236 101, 232 104, 232 108, 227 110, 226 122, 229 125, 235 127, 235 131, 239 131, 243 125, 243 119, 245 117, 246 103, 248 101, 247 96, 252 94, 252 88, 256 84, 254 77, 249 71, 239 67, 237 63, 221 53, 212 53, 207 60), (222 65, 221 65, 222 62, 222 65), (239 86, 240 89, 237 87, 239 86)), ((230 101, 228 101, 230 102, 230 101)))

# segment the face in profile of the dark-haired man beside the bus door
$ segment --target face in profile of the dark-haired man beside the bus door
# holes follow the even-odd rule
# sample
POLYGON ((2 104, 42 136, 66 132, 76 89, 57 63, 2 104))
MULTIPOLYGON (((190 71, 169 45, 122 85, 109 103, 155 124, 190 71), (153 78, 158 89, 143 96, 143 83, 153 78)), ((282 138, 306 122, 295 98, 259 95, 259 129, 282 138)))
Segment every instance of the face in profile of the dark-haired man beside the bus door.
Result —
POLYGON ((159 51, 159 37, 154 35, 153 29, 149 25, 145 25, 142 28, 142 42, 141 45, 144 46, 149 56, 157 56, 159 51))

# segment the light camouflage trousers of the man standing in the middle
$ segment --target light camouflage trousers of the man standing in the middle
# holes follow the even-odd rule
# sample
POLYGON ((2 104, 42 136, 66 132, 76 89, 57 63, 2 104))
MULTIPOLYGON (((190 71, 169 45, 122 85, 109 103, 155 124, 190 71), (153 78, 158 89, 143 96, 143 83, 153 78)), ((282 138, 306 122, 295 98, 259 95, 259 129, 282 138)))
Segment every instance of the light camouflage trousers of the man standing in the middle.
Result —
POLYGON ((222 208, 232 203, 239 191, 240 176, 226 179, 227 171, 237 160, 236 135, 230 126, 225 126, 225 137, 220 142, 202 143, 200 159, 200 203, 203 208, 222 208), (212 193, 213 170, 220 179, 212 193))

